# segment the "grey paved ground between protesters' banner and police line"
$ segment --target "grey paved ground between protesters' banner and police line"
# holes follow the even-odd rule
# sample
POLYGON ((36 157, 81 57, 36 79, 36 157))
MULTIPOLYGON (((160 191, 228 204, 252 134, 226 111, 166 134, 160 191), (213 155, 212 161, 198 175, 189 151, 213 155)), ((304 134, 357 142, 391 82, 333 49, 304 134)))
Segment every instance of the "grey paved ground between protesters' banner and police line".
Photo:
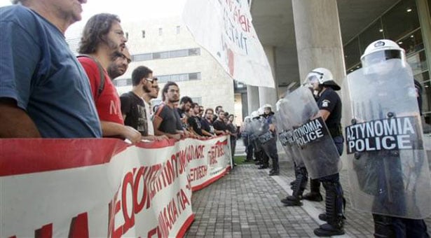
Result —
MULTIPOLYGON (((186 237, 315 237, 313 230, 322 224, 317 218, 324 202, 304 201, 303 207, 284 207, 280 199, 291 194, 292 163, 280 162, 280 176, 256 165, 240 165, 224 178, 193 193, 194 223, 186 237)), ((347 172, 341 172, 343 189, 349 199, 347 172)), ((321 189, 323 190, 323 189, 321 189)), ((308 190, 306 190, 306 193, 308 190)), ((371 214, 346 208, 346 235, 373 237, 371 214)), ((431 228, 431 219, 427 219, 431 228)))

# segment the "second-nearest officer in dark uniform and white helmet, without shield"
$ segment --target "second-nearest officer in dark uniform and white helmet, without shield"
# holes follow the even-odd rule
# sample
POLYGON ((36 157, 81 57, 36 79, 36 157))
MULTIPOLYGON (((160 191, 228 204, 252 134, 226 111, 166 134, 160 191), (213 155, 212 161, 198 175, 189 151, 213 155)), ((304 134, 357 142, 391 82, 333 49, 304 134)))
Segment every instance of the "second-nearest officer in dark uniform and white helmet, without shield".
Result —
MULTIPOLYGON (((329 69, 317 68, 310 71, 308 81, 317 90, 317 106, 334 141, 339 155, 343 153, 343 135, 341 130, 341 99, 336 90, 340 90, 329 69)), ((320 178, 326 191, 326 213, 321 214, 327 223, 314 230, 317 236, 343 235, 343 188, 338 173, 320 178)))

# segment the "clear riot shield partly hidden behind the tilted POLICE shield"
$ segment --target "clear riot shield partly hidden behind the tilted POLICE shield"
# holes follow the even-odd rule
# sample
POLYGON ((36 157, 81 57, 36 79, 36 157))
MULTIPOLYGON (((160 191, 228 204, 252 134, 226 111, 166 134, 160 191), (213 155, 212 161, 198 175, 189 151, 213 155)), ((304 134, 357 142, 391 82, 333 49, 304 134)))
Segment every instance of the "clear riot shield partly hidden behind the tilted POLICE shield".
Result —
POLYGON ((303 167, 303 160, 299 147, 294 143, 293 125, 295 115, 290 115, 285 112, 284 104, 289 103, 286 99, 280 101, 279 110, 275 112, 275 127, 278 134, 278 139, 282 148, 285 150, 287 157, 292 158, 296 166, 303 167))

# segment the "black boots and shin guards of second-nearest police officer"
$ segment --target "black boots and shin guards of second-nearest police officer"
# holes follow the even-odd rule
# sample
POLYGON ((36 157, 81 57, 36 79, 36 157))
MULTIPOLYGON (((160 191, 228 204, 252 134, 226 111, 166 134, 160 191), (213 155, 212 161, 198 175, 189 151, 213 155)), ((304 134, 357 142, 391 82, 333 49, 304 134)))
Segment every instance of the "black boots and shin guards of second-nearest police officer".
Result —
POLYGON ((327 223, 314 230, 317 237, 331 237, 344 234, 343 190, 339 182, 323 182, 326 190, 325 205, 327 223))

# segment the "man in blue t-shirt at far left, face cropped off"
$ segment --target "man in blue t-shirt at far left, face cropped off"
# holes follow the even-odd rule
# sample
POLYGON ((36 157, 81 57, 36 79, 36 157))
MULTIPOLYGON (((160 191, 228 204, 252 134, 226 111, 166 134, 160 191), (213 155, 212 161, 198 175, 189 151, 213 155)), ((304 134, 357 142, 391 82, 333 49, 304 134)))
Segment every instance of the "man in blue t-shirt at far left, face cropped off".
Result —
POLYGON ((87 76, 64 38, 83 1, 15 3, 0 8, 0 137, 101 137, 87 76))

